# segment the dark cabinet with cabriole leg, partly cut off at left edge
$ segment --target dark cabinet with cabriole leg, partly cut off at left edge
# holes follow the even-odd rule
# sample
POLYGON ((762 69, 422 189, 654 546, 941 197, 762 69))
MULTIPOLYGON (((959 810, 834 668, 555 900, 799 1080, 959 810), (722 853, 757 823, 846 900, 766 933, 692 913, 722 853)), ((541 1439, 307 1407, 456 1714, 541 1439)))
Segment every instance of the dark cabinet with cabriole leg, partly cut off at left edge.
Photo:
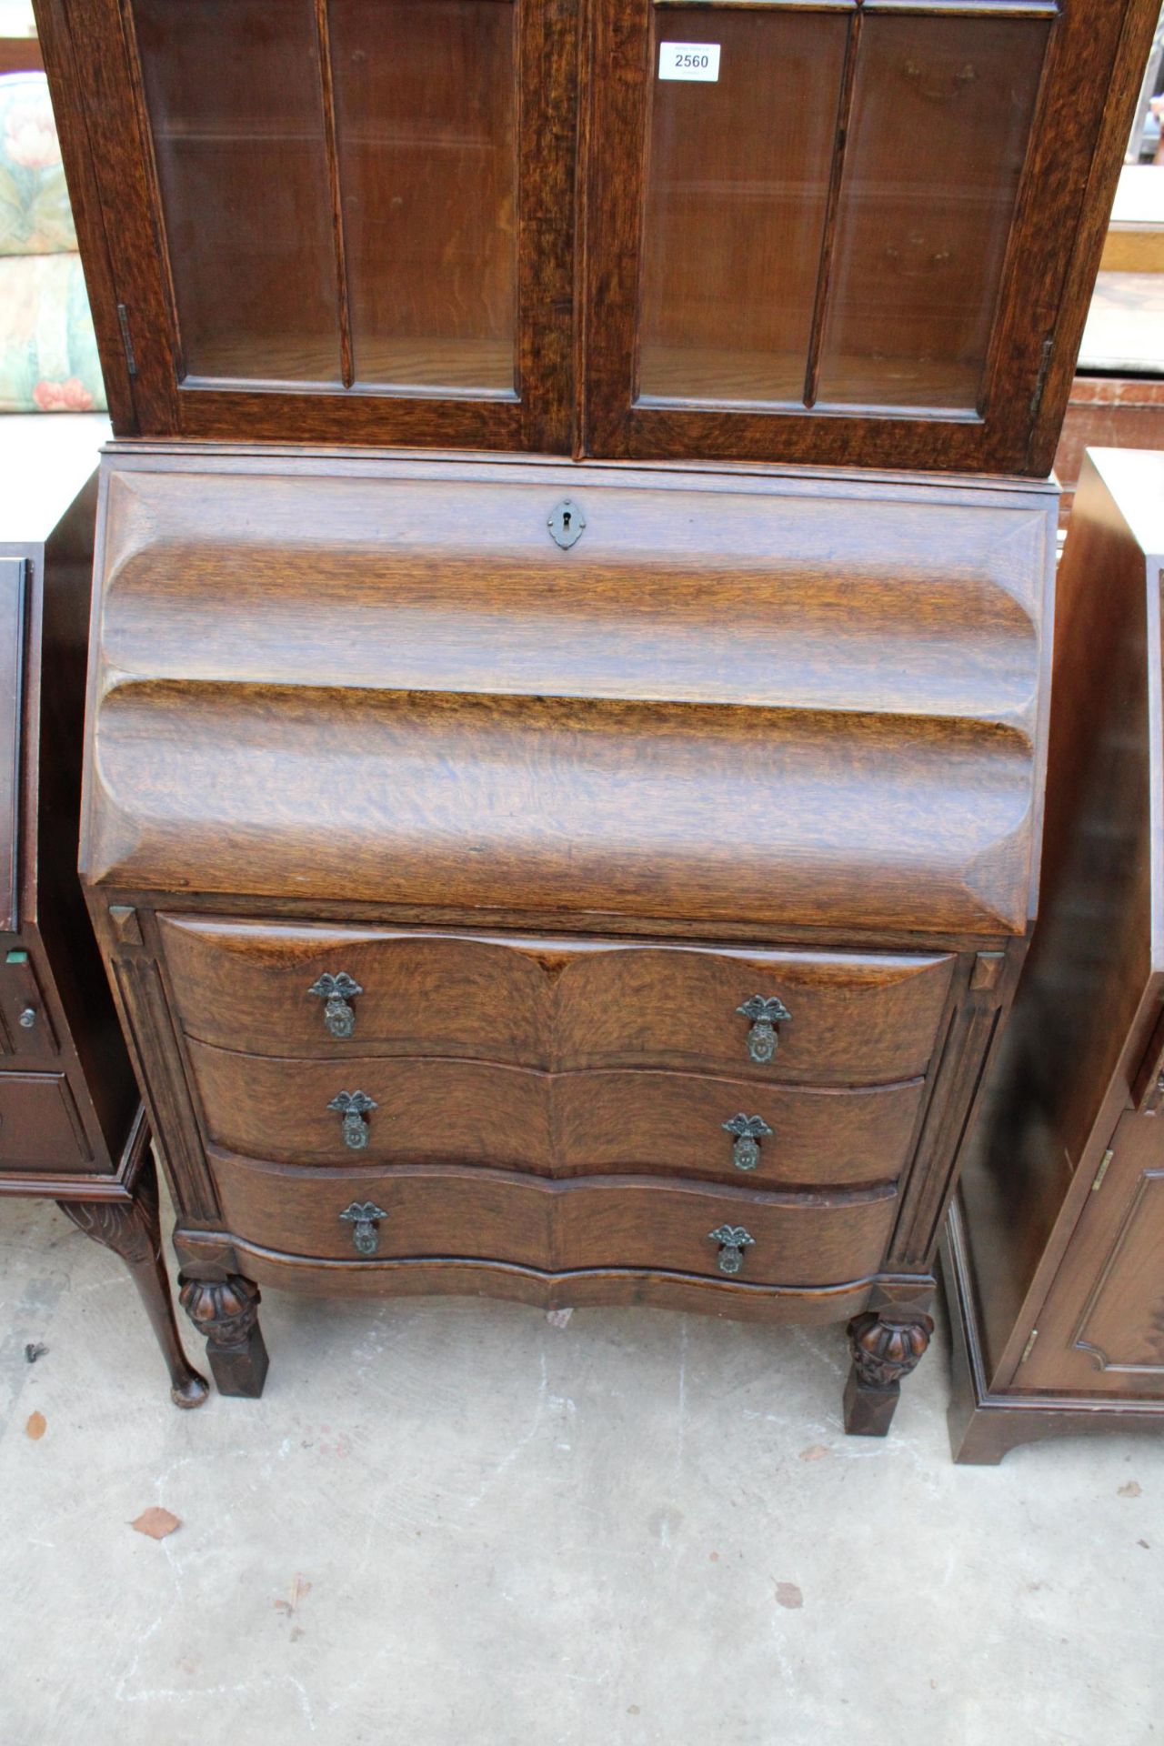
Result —
POLYGON ((175 1327, 150 1130, 77 880, 103 421, 47 423, 0 423, 0 1196, 52 1196, 127 1262, 173 1400, 194 1407, 206 1383, 175 1327))

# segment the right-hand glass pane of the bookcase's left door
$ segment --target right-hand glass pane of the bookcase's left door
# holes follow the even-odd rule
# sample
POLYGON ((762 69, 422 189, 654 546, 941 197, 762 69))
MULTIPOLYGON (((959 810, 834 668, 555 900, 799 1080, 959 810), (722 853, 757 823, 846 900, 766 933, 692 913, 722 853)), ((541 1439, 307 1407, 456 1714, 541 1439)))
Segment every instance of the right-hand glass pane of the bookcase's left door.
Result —
POLYGON ((330 19, 356 381, 513 391, 513 5, 332 0, 330 19))

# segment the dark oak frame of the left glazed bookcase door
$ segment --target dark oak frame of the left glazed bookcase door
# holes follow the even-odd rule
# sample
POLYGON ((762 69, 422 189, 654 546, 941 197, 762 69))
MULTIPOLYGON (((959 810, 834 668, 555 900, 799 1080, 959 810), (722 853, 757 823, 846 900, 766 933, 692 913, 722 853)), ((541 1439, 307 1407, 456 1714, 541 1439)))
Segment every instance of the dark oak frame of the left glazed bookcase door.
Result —
POLYGON ((129 0, 35 0, 117 435, 569 452, 578 0, 511 0, 518 129, 513 395, 181 381, 129 0))

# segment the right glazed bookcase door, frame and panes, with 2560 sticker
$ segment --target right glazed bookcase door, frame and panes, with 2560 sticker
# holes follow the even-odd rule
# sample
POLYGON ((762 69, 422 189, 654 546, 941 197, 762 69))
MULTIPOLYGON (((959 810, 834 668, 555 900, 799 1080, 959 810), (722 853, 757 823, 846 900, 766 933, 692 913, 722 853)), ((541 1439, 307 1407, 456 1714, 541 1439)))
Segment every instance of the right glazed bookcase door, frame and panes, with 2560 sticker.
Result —
POLYGON ((1047 471, 1136 5, 597 0, 592 452, 1047 471))

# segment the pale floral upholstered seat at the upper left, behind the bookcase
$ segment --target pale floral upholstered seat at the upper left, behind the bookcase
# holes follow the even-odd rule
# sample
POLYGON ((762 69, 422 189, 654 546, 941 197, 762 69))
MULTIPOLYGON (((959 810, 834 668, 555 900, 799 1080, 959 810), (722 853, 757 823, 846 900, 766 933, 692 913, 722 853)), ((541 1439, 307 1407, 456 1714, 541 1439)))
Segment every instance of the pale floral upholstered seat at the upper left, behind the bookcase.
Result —
POLYGON ((0 79, 0 412, 105 410, 44 73, 0 79))

